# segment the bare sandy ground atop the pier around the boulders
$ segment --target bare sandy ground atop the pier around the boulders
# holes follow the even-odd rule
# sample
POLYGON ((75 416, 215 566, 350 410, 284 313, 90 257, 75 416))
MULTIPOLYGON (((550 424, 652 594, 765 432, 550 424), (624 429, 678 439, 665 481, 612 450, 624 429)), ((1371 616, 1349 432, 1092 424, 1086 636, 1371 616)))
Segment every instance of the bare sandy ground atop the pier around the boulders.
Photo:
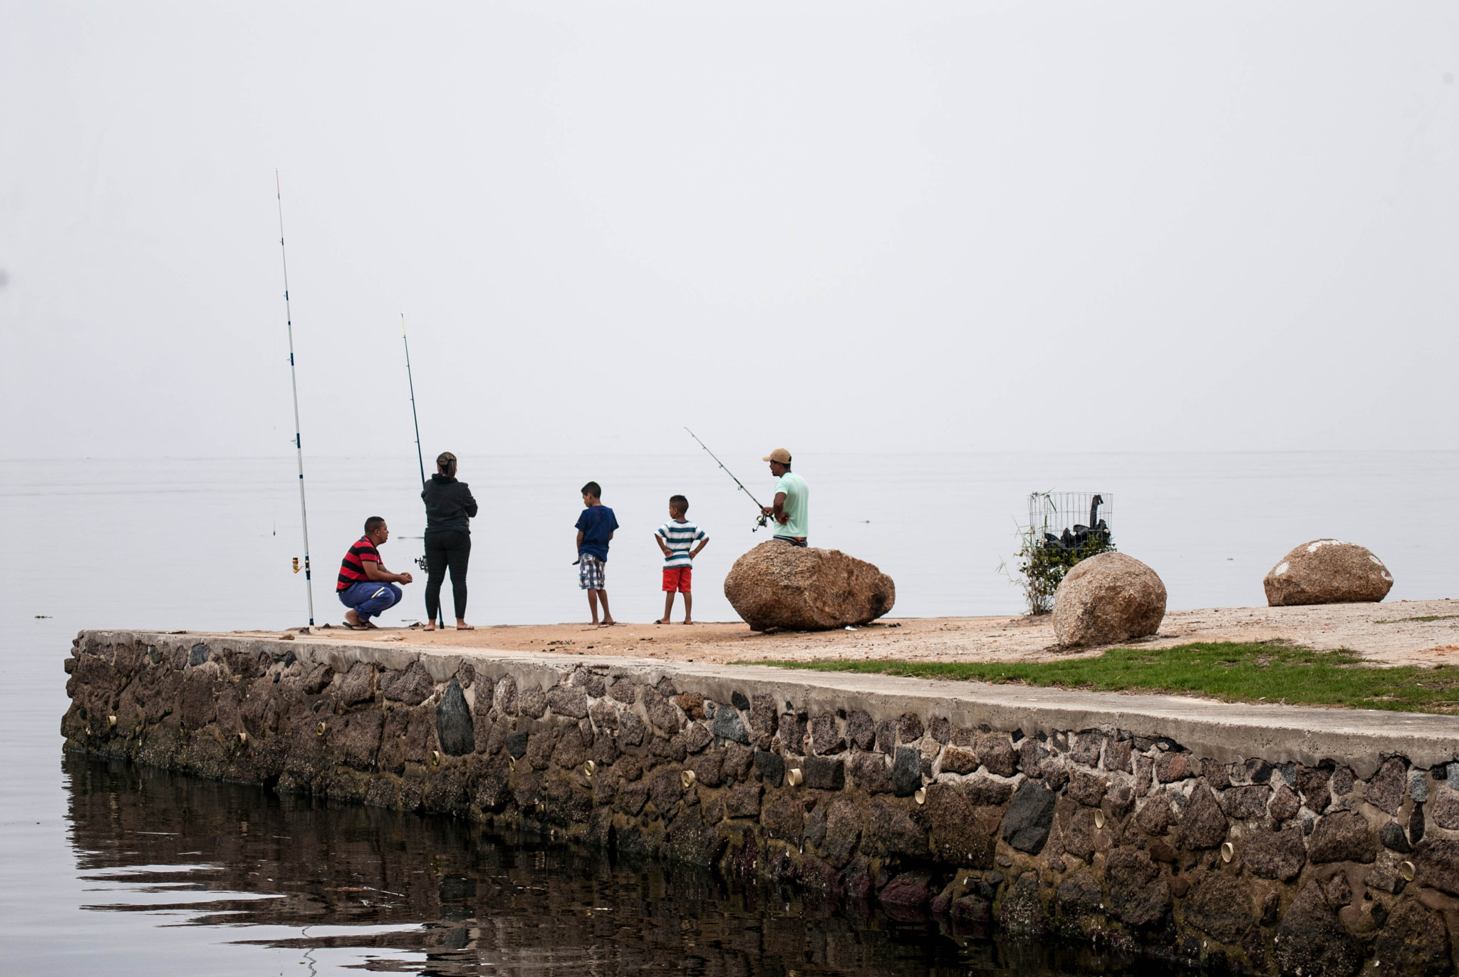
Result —
MULTIPOLYGON (((636 656, 687 662, 775 659, 903 659, 913 662, 1032 662, 1100 648, 1062 651, 1045 618, 890 618, 856 629, 756 634, 743 622, 500 625, 476 631, 315 628, 309 641, 391 641, 433 647, 498 648, 573 656, 636 656)), ((1325 605, 1312 608, 1210 608, 1173 610, 1160 634, 1138 644, 1285 640, 1313 648, 1352 648, 1385 664, 1459 663, 1459 600, 1325 605), (1418 621, 1417 618, 1439 618, 1418 621)), ((1129 643, 1126 643, 1129 644, 1129 643)))

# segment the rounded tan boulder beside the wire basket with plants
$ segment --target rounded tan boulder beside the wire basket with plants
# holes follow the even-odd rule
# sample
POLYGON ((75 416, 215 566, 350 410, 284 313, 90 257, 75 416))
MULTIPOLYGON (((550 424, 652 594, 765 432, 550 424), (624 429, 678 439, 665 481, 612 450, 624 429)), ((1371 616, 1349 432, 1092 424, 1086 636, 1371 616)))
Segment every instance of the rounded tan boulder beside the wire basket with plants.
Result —
POLYGON ((1064 645, 1110 644, 1160 629, 1166 586, 1125 553, 1099 553, 1074 565, 1053 591, 1053 635, 1064 645))

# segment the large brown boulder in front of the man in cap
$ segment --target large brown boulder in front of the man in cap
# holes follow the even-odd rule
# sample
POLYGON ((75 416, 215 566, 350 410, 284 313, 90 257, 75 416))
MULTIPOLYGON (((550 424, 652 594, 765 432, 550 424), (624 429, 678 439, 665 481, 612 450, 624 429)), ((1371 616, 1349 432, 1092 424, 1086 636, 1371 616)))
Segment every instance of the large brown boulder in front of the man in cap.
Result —
POLYGON ((734 561, 725 597, 751 631, 829 631, 891 610, 897 586, 839 549, 769 540, 734 561))

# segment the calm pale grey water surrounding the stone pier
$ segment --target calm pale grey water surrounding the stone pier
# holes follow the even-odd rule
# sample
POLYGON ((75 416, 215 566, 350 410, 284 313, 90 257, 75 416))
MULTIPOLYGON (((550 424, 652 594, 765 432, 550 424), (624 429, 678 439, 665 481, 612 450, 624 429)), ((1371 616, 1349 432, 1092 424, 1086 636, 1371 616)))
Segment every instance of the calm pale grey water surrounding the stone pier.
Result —
MULTIPOLYGON (((395 472, 311 460, 318 619, 340 619, 330 578, 365 516, 391 521, 384 555, 394 568, 419 553, 419 540, 404 539, 420 535, 410 461, 395 472)), ((0 461, 7 971, 1134 973, 662 866, 506 844, 467 825, 63 758, 60 663, 77 629, 302 622, 302 577, 289 571, 302 553, 290 464, 0 461)), ((757 463, 738 467, 756 476, 751 491, 767 491, 757 463)), ((1116 542, 1161 574, 1173 608, 1259 603, 1262 574, 1287 549, 1329 535, 1388 562, 1390 600, 1459 596, 1446 536, 1459 508, 1456 453, 839 456, 797 469, 813 489, 813 542, 881 565, 907 616, 1017 610, 996 567, 1034 489, 1112 494, 1116 542)), ((477 624, 585 612, 569 564, 576 488, 589 478, 623 526, 608 564, 622 619, 661 609, 648 536, 671 492, 690 497, 713 537, 697 564, 702 619, 730 616, 719 581, 763 537, 750 533, 743 497, 693 453, 464 459, 463 478, 483 504, 477 624)), ((407 590, 401 618, 419 616, 419 586, 407 590)))

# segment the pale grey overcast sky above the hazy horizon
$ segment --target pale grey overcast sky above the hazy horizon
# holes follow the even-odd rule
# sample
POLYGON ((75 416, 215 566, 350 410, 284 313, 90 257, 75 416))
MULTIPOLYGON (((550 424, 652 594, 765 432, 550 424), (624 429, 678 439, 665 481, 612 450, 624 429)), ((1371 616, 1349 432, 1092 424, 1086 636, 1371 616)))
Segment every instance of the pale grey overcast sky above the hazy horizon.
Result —
POLYGON ((1452 3, 0 3, 3 453, 1459 447, 1452 3), (429 445, 427 445, 429 448, 429 445))

